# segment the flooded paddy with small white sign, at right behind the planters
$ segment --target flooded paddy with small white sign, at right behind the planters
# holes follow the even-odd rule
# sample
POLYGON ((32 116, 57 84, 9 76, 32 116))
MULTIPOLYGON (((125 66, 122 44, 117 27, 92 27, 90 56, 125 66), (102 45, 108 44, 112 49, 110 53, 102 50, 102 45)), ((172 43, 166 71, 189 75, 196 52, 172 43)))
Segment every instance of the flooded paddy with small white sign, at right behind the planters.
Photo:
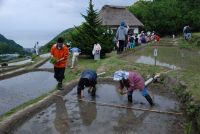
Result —
POLYGON ((165 66, 172 69, 190 69, 200 71, 200 54, 180 50, 173 47, 146 47, 134 54, 124 57, 124 60, 165 66), (154 57, 154 49, 157 49, 157 57, 154 57))

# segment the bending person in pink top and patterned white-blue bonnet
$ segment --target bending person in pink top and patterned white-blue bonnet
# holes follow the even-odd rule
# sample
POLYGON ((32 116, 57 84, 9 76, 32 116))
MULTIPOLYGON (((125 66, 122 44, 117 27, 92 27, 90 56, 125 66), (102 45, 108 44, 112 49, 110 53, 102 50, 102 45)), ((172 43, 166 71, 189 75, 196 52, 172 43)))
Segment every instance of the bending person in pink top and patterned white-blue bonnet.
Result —
POLYGON ((151 106, 155 105, 146 91, 145 81, 140 74, 136 72, 116 71, 113 80, 119 80, 119 93, 122 95, 128 94, 127 97, 129 102, 132 102, 133 91, 139 89, 140 93, 147 99, 149 104, 151 106), (124 86, 127 87, 127 91, 122 91, 124 86))

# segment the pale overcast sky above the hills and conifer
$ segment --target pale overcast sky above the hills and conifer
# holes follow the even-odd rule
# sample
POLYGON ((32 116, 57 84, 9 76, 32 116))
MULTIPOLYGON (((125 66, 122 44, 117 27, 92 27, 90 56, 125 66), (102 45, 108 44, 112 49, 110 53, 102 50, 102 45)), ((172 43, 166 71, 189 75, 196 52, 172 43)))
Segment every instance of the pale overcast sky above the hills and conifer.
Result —
MULTIPOLYGON (((129 6, 137 0, 93 0, 98 11, 104 5, 129 6)), ((25 48, 41 46, 60 32, 84 22, 89 0, 0 0, 0 34, 25 48)))

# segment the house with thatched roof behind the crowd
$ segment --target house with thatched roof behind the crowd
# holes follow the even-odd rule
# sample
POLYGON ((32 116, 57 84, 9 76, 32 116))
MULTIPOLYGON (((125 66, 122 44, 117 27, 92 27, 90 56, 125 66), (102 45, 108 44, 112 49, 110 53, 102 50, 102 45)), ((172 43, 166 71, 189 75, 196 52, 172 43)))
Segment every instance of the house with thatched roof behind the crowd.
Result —
POLYGON ((124 6, 105 5, 99 11, 100 19, 103 20, 102 26, 110 26, 113 34, 124 21, 130 27, 129 33, 138 33, 139 27, 144 26, 131 12, 124 6))

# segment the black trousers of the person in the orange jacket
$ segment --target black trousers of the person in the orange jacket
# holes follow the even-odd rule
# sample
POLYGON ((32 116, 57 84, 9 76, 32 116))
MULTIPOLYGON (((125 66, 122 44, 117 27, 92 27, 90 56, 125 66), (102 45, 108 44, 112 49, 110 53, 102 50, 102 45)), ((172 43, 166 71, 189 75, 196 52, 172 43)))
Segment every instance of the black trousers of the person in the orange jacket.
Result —
POLYGON ((65 78, 65 67, 63 68, 57 68, 57 67, 54 67, 54 78, 59 81, 59 82, 62 82, 63 79, 65 78))

